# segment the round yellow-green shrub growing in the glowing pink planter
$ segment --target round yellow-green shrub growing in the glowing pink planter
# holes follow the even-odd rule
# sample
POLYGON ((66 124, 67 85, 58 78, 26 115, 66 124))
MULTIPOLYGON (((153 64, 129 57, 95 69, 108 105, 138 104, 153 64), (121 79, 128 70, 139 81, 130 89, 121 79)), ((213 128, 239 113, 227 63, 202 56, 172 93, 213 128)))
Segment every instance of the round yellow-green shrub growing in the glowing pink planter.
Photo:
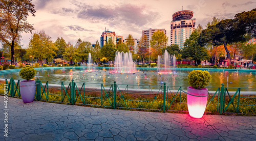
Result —
POLYGON ((203 89, 208 86, 211 75, 208 71, 194 70, 188 74, 188 82, 195 89, 203 89))

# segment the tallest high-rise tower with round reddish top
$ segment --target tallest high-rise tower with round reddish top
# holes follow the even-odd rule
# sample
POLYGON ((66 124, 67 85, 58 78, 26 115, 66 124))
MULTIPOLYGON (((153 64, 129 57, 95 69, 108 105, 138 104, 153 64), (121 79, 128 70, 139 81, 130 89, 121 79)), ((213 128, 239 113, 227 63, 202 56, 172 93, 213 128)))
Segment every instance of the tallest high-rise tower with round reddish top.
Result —
POLYGON ((193 11, 182 10, 173 14, 173 21, 170 22, 170 43, 178 44, 182 49, 184 42, 195 30, 196 19, 192 19, 193 11))

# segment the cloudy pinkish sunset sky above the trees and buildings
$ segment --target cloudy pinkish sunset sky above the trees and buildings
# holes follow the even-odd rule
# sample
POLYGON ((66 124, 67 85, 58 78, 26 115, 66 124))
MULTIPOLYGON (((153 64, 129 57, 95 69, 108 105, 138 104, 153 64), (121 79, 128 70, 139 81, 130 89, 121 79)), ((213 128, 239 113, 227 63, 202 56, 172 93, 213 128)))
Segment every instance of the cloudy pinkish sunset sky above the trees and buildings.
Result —
MULTIPOLYGON (((196 26, 212 20, 233 18, 235 14, 250 11, 256 6, 255 0, 33 0, 35 17, 29 16, 33 33, 44 30, 55 42, 57 37, 67 43, 80 38, 95 44, 100 42, 101 33, 116 32, 126 39, 129 34, 140 39, 141 31, 165 29, 170 44, 170 22, 172 15, 182 10, 191 10, 196 26)), ((32 34, 22 33, 20 43, 27 48, 32 34)))

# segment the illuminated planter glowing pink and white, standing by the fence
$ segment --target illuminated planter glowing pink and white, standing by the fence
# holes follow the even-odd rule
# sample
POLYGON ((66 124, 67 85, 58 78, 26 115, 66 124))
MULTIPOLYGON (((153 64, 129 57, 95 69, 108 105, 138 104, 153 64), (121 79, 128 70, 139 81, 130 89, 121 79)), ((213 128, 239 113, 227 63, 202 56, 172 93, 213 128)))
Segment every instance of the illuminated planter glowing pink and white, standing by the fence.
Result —
POLYGON ((187 93, 189 115, 197 119, 202 118, 207 105, 208 89, 197 90, 192 87, 187 87, 187 93))

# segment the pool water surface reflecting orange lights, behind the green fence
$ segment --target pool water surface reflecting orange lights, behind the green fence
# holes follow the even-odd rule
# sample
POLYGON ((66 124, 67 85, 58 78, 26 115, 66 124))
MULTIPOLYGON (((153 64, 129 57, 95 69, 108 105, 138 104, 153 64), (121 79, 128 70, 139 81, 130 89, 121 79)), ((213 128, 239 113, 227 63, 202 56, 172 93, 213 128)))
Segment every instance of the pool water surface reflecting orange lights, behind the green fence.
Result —
MULTIPOLYGON (((64 82, 68 84, 72 79, 81 85, 79 82, 85 82, 88 87, 99 87, 103 83, 105 86, 109 83, 117 84, 131 84, 129 88, 148 89, 144 85, 150 85, 152 88, 161 86, 161 82, 166 82, 167 86, 189 86, 188 73, 193 69, 177 68, 177 74, 157 74, 156 68, 138 68, 137 72, 131 73, 109 73, 109 69, 99 69, 96 72, 86 72, 83 69, 77 68, 58 68, 58 69, 42 69, 36 68, 39 79, 42 83, 49 81, 49 83, 61 84, 64 82)), ((238 87, 238 88, 256 88, 256 72, 255 71, 227 71, 221 69, 207 69, 212 75, 212 80, 209 82, 208 87, 220 87, 221 83, 225 87, 238 87)), ((13 77, 15 80, 23 80, 18 71, 9 73, 0 73, 0 78, 10 79, 13 77)), ((34 79, 36 79, 37 75, 34 79)), ((121 87, 121 85, 120 85, 121 87)), ((123 86, 125 88, 125 86, 123 86)), ((212 90, 216 90, 212 89, 212 90)), ((255 91, 255 90, 243 90, 255 91)))

